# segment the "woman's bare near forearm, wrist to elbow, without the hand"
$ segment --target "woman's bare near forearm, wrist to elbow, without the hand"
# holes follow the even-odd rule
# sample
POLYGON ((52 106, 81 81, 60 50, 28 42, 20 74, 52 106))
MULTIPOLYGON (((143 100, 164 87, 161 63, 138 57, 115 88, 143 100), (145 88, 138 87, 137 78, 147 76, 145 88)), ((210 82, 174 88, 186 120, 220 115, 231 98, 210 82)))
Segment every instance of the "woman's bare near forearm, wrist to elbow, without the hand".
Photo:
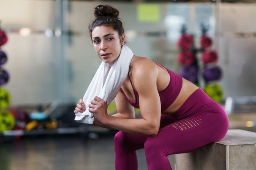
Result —
POLYGON ((154 136, 159 130, 157 127, 152 126, 152 124, 149 124, 149 122, 145 119, 123 119, 108 116, 107 120, 104 120, 102 124, 116 130, 133 134, 146 134, 154 136))

